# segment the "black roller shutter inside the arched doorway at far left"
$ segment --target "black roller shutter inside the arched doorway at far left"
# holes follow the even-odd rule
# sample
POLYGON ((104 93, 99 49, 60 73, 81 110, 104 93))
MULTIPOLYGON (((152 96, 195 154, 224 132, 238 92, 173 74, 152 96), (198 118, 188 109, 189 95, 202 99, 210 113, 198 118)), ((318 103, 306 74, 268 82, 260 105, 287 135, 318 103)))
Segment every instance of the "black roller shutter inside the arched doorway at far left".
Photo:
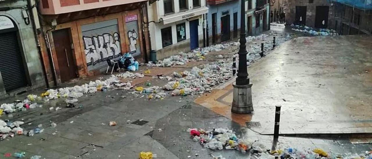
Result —
POLYGON ((28 85, 16 32, 0 34, 0 73, 7 92, 28 85))

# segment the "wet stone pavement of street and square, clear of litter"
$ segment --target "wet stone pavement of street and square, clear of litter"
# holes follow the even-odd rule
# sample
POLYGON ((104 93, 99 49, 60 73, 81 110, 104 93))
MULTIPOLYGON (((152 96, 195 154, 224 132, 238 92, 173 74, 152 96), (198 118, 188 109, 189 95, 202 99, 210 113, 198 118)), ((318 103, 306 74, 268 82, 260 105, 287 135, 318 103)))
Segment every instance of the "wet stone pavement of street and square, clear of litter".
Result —
MULTIPOLYGON (((268 39, 271 41, 272 37, 268 39)), ((32 137, 21 135, 0 141, 0 153, 26 152, 26 158, 41 155, 61 159, 136 159, 141 151, 151 151, 157 158, 167 159, 209 159, 210 154, 227 159, 249 158, 234 150, 202 147, 190 139, 186 130, 226 127, 270 149, 273 137, 263 135, 263 132, 272 132, 270 126, 274 118, 271 112, 276 104, 283 105, 282 131, 294 125, 294 130, 302 131, 309 126, 306 124, 318 121, 325 122, 317 125, 315 130, 331 131, 336 123, 355 126, 356 121, 370 129, 368 124, 372 117, 368 103, 372 99, 369 71, 372 56, 371 46, 366 44, 368 41, 371 41, 370 37, 337 36, 297 38, 283 43, 248 68, 255 109, 250 116, 230 113, 230 84, 233 80, 220 85, 212 93, 185 97, 168 95, 163 100, 148 100, 146 95, 134 97, 130 91, 108 90, 84 95, 75 108, 65 108, 64 101, 59 99, 43 104, 40 109, 12 113, 12 120, 25 121, 24 129, 42 124, 45 131, 32 137), (51 106, 62 109, 49 111, 51 106), (109 126, 109 121, 116 121, 117 125, 109 126), (259 121, 261 127, 248 129, 247 121, 259 121), (49 127, 51 122, 58 126, 49 127)), ((158 79, 157 74, 165 76, 173 71, 190 71, 193 66, 218 61, 217 55, 231 58, 237 48, 231 46, 220 52, 210 52, 202 62, 150 68, 151 73, 145 74, 144 78, 123 81, 129 80, 136 85, 149 81, 151 85, 163 86, 167 81, 158 79)), ((141 72, 145 70, 147 67, 142 66, 141 72)), ((3 120, 7 118, 1 117, 3 120)), ((315 136, 280 136, 275 146, 306 150, 318 147, 339 153, 360 153, 372 148, 368 144, 352 144, 349 135, 317 135, 314 129, 311 131, 315 136)), ((363 137, 363 140, 368 140, 367 136, 354 137, 355 140, 363 137)))

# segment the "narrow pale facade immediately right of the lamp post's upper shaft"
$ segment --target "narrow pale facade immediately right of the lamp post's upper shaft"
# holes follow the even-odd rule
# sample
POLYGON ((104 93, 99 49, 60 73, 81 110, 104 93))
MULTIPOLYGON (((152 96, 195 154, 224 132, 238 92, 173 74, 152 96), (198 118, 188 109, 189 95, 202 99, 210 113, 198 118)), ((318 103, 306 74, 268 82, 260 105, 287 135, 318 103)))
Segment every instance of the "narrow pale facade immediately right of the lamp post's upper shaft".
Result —
POLYGON ((267 0, 246 1, 247 36, 259 35, 269 29, 269 9, 267 0))

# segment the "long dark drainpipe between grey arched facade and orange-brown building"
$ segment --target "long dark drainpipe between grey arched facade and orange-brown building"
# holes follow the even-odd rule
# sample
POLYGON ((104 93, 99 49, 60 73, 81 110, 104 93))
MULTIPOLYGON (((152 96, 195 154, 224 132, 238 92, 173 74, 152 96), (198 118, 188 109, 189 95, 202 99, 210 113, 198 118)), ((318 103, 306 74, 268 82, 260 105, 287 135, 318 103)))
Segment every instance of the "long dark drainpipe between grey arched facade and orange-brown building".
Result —
MULTIPOLYGON (((38 31, 36 29, 36 23, 35 23, 35 15, 33 14, 33 7, 37 7, 36 5, 36 1, 35 1, 35 6, 31 6, 31 0, 27 0, 27 7, 28 7, 28 10, 30 12, 30 20, 32 22, 32 30, 33 30, 33 35, 34 35, 34 38, 35 38, 35 42, 36 42, 36 47, 38 48, 38 53, 39 53, 39 56, 42 58, 42 52, 41 52, 41 47, 40 47, 40 41, 39 41, 39 38, 38 38, 38 31)), ((44 65, 44 61, 41 62, 41 65, 43 67, 43 73, 44 73, 44 80, 45 80, 45 83, 47 84, 47 87, 49 88, 50 85, 49 85, 49 82, 48 82, 48 77, 47 77, 47 70, 45 68, 45 65, 44 65)))

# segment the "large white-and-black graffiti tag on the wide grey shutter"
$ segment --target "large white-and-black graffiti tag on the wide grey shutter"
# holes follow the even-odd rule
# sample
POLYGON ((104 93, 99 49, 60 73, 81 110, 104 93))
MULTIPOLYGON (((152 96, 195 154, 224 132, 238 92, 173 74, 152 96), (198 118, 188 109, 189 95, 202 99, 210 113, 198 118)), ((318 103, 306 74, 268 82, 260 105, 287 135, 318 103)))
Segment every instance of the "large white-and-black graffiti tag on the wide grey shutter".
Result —
POLYGON ((83 36, 87 66, 105 61, 121 54, 119 34, 105 33, 98 36, 83 36))

